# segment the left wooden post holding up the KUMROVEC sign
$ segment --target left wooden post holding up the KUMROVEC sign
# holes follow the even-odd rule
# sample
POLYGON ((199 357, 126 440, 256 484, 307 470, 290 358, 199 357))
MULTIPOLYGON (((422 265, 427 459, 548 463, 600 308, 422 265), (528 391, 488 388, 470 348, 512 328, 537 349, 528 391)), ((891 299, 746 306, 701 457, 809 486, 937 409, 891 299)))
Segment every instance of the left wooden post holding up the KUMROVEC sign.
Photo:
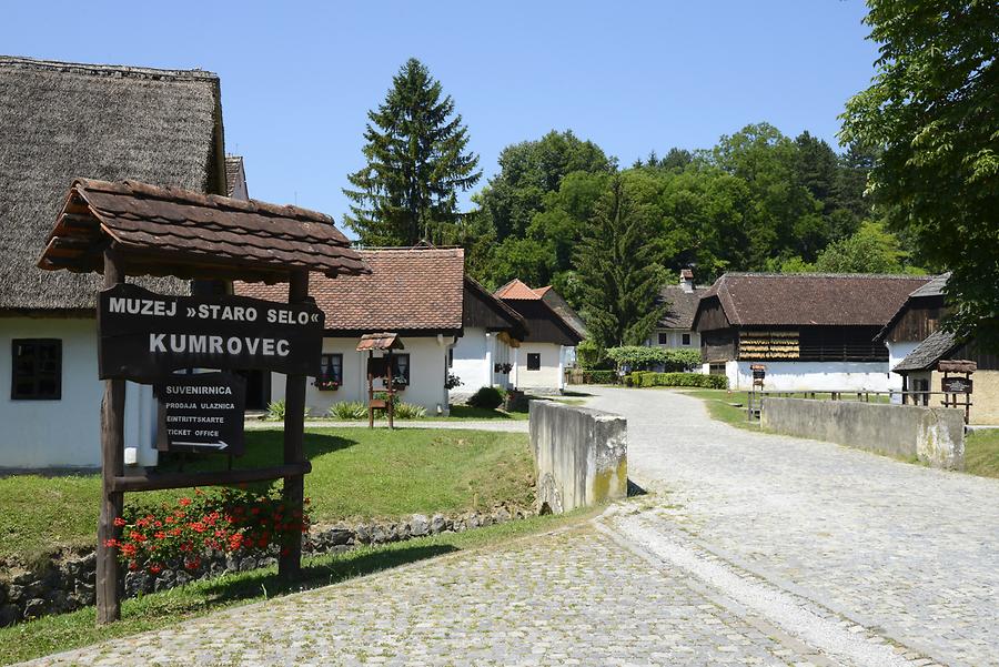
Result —
MULTIPOLYGON (((104 251, 104 289, 124 282, 121 266, 111 251, 104 251)), ((97 623, 121 618, 118 552, 105 540, 118 537, 114 519, 121 516, 124 494, 111 491, 112 481, 124 474, 124 380, 104 381, 101 403, 101 517, 97 548, 97 623)))

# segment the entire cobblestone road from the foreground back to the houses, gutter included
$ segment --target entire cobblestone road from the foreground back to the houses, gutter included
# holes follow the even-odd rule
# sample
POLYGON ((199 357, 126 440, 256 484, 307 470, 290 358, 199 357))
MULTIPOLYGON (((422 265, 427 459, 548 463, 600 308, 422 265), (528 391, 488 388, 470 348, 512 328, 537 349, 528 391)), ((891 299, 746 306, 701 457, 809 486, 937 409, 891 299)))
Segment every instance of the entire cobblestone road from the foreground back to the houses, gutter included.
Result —
POLYGON ((596 392, 657 493, 37 664, 999 664, 999 483, 596 392))

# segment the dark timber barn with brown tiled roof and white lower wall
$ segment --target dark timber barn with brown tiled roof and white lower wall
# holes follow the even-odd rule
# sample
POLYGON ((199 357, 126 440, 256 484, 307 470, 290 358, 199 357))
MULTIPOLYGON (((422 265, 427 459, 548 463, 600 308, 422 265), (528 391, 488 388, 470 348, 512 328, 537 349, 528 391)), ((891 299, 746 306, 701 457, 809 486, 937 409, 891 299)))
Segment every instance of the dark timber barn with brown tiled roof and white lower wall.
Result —
POLYGON ((927 276, 726 273, 698 303, 706 373, 733 390, 887 391, 888 350, 878 332, 927 276))

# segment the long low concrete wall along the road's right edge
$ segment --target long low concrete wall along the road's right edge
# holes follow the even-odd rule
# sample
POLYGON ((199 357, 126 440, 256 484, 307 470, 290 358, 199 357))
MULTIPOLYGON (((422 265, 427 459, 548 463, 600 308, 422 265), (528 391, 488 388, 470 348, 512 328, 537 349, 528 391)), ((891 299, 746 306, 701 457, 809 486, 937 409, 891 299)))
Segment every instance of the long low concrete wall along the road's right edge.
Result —
POLYGON ((786 435, 918 458, 934 467, 965 467, 965 421, 957 410, 764 398, 760 425, 786 435))

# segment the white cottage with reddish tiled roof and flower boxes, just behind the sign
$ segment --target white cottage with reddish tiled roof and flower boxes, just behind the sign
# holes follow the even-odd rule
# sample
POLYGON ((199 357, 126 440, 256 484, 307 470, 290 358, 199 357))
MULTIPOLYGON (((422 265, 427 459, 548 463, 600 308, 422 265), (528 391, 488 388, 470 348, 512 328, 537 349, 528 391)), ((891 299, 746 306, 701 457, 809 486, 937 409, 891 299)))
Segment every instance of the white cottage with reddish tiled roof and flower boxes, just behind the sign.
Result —
MULTIPOLYGON (((447 378, 455 365, 464 372, 462 390, 493 382, 485 366, 492 363, 487 360, 501 358, 503 346, 481 343, 500 335, 511 341, 523 322, 502 304, 490 303, 495 300, 483 297, 484 290, 465 279, 462 249, 389 247, 362 250, 360 255, 370 275, 310 279, 309 293, 326 315, 324 376, 314 378, 305 395, 313 415, 326 414, 334 403, 367 398, 367 352, 357 351, 364 334, 393 333, 402 341, 404 348, 393 353, 400 400, 423 406, 430 415, 448 413, 447 378), (471 340, 463 347, 467 354, 455 352, 466 331, 465 304, 470 304, 471 340), (496 356, 490 357, 490 351, 496 356)), ((245 296, 281 295, 279 285, 234 286, 245 296)), ((271 376, 270 396, 284 397, 283 375, 271 376)))

